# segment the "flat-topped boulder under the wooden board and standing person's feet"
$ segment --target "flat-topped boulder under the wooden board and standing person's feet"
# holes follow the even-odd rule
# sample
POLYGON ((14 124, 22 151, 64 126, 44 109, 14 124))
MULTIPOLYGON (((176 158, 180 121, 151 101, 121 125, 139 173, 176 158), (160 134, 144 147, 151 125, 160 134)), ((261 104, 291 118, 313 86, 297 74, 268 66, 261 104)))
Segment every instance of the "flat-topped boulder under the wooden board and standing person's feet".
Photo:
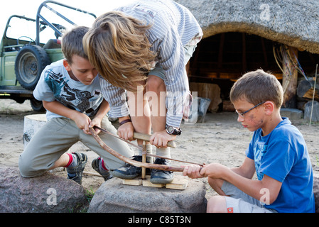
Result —
POLYGON ((118 178, 104 182, 90 202, 89 213, 205 213, 205 186, 190 179, 184 190, 122 184, 118 178))

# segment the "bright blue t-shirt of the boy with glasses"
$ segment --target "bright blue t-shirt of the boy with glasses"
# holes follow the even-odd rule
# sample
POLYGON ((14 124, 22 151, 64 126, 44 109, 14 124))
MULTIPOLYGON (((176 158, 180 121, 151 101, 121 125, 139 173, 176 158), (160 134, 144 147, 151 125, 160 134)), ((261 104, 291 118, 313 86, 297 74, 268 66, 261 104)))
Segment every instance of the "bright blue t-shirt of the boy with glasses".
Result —
POLYGON ((282 183, 279 195, 267 209, 278 212, 315 212, 313 169, 306 142, 288 118, 262 136, 261 128, 254 132, 246 151, 254 160, 259 180, 267 175, 282 183))

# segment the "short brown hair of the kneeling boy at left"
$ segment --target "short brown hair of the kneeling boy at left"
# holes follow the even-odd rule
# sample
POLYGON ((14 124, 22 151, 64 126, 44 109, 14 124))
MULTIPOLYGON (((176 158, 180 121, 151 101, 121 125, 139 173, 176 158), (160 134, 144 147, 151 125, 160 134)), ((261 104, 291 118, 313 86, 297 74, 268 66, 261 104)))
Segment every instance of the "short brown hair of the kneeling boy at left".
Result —
POLYGON ((72 65, 73 55, 78 55, 88 60, 88 57, 83 50, 83 37, 87 31, 89 31, 89 28, 78 26, 63 35, 61 49, 65 59, 70 65, 72 65))

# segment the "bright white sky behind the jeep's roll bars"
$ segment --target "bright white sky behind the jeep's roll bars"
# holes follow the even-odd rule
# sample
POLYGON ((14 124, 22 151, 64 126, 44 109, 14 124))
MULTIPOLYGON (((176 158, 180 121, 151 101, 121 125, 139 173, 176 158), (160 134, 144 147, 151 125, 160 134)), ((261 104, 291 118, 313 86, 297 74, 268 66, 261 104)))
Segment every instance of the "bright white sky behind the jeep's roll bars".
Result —
MULTIPOLYGON (((36 19, 36 13, 38 11, 38 7, 45 0, 9 0, 6 1, 4 6, 0 7, 0 33, 1 38, 4 33, 4 28, 6 26, 6 22, 11 15, 19 15, 26 16, 28 18, 36 19)), ((106 13, 114 9, 117 6, 121 6, 122 4, 126 4, 133 0, 55 0, 62 4, 73 6, 78 9, 82 9, 85 11, 89 11, 94 13, 96 16, 100 16, 102 13, 106 13)), ((4 1, 2 1, 4 2, 4 1)), ((55 4, 48 4, 48 6, 53 9, 57 9, 55 4)), ((45 8, 43 8, 43 16, 45 16, 45 8)), ((57 9, 57 11, 59 11, 57 9)), ((59 11, 60 12, 60 11, 59 11)), ((63 13, 62 13, 63 14, 63 13)), ((48 15, 48 21, 50 21, 50 14, 48 15)), ((64 15, 64 14, 63 14, 64 15)), ((64 15, 67 17, 67 15, 64 15)), ((70 18, 71 19, 71 18, 70 18)), ((94 20, 94 18, 92 17, 94 20)), ((51 22, 51 21, 50 21, 51 22)), ((80 24, 79 24, 80 25, 80 24)), ((23 34, 21 34, 23 35, 23 34)))

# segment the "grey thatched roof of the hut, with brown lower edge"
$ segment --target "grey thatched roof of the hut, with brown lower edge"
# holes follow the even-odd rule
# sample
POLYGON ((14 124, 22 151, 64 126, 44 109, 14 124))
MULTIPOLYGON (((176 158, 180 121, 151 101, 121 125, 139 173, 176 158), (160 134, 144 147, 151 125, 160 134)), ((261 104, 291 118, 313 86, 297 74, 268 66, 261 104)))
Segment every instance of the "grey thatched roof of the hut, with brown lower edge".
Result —
POLYGON ((175 0, 198 19, 204 38, 242 32, 319 53, 318 0, 175 0))

